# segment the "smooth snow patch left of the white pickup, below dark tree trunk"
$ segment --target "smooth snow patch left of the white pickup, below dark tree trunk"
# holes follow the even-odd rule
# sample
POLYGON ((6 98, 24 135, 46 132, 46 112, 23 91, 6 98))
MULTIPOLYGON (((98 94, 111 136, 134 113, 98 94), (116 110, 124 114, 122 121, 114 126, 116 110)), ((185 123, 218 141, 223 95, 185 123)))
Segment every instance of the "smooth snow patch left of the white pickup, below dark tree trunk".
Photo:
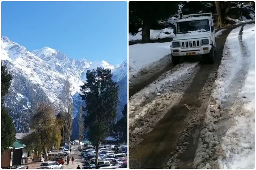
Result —
POLYGON ((140 72, 154 68, 160 59, 169 55, 170 45, 171 42, 129 45, 129 81, 140 76, 140 72))

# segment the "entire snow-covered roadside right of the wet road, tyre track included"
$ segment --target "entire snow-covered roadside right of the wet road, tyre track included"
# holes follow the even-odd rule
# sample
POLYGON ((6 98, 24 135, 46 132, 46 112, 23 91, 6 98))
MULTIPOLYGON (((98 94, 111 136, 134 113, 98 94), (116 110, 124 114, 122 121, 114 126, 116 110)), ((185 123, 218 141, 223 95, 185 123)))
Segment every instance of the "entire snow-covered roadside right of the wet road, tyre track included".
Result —
POLYGON ((254 25, 227 37, 201 131, 195 168, 254 168, 254 25), (252 31, 253 30, 253 31, 252 31))

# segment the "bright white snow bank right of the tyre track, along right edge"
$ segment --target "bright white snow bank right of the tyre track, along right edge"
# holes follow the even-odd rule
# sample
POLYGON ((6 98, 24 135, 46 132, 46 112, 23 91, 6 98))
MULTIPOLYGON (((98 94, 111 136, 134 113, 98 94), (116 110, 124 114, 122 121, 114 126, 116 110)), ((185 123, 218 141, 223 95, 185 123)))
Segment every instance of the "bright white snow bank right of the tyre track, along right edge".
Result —
MULTIPOLYGON (((254 168, 255 162, 255 32, 254 25, 246 25, 243 42, 249 50, 249 68, 238 99, 231 108, 233 125, 221 138, 223 160, 220 168, 254 168)), ((222 158, 222 156, 220 156, 222 158)))

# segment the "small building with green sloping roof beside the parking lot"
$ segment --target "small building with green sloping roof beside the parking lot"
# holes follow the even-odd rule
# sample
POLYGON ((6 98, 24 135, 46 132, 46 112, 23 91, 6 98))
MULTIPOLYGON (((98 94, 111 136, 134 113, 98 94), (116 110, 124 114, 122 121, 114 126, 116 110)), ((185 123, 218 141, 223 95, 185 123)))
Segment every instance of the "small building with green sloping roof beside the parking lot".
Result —
POLYGON ((23 148, 26 145, 16 139, 13 145, 4 151, 1 155, 1 168, 9 168, 11 166, 21 165, 23 148))

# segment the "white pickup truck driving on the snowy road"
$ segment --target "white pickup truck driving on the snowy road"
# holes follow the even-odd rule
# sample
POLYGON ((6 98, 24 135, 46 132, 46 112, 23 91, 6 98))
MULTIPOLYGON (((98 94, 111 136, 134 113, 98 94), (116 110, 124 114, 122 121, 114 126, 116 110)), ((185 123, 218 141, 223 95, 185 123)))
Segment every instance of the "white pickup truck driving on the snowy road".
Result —
POLYGON ((189 55, 202 55, 214 63, 216 42, 212 13, 183 15, 176 23, 174 34, 171 44, 174 65, 189 55))

